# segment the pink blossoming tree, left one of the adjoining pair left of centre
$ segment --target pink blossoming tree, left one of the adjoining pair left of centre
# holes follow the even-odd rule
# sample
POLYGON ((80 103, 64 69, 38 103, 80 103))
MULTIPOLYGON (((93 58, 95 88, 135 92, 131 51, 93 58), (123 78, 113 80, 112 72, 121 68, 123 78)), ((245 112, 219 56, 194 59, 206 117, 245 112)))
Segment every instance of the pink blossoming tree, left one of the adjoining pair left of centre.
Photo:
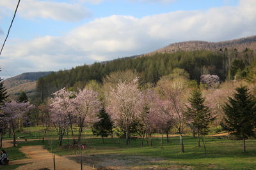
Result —
MULTIPOLYGON (((75 115, 75 104, 74 97, 76 97, 76 92, 70 92, 65 88, 58 90, 53 93, 53 98, 51 99, 51 110, 52 114, 62 114, 68 118, 68 125, 70 126, 73 144, 76 143, 74 136, 73 124, 76 121, 75 115)), ((65 121, 64 121, 65 122, 65 121)))

